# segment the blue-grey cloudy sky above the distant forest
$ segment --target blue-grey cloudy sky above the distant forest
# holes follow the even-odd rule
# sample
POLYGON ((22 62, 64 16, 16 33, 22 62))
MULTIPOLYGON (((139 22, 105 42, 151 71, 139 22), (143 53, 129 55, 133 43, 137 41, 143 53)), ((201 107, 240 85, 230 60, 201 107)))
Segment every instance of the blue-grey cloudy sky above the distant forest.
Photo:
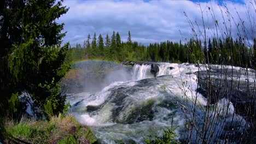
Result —
MULTIPOLYGON (((144 45, 165 40, 182 40, 184 42, 186 38, 193 37, 191 25, 189 25, 187 17, 184 16, 184 12, 194 23, 197 34, 200 33, 199 29, 203 29, 198 2, 203 10, 207 37, 213 37, 216 33, 212 12, 214 11, 218 23, 227 22, 225 5, 237 23, 239 17, 236 12, 247 25, 249 22, 246 11, 249 11, 249 16, 253 20, 252 27, 255 28, 255 11, 249 1, 254 2, 254 0, 66 0, 63 5, 69 7, 69 11, 58 22, 65 23, 64 31, 67 31, 67 35, 63 41, 69 41, 73 46, 77 43, 83 44, 88 34, 96 33, 97 36, 102 34, 105 37, 107 33, 112 35, 113 31, 119 32, 123 41, 127 40, 127 33, 131 31, 132 40, 144 45), (208 7, 211 9, 209 10, 208 7)), ((220 26, 220 28, 225 27, 220 26)), ((231 20, 230 31, 232 35, 237 35, 237 28, 233 20, 231 20)))

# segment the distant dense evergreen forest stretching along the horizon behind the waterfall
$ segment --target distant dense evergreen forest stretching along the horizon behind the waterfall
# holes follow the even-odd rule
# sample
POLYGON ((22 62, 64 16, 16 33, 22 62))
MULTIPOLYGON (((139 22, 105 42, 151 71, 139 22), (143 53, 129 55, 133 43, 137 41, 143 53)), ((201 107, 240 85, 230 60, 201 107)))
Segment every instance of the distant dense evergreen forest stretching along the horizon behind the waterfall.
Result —
POLYGON ((121 41, 120 35, 89 34, 84 44, 77 44, 69 49, 68 61, 79 59, 102 58, 115 61, 150 61, 177 63, 211 63, 228 64, 240 67, 253 67, 253 47, 248 47, 242 38, 209 38, 201 40, 191 38, 187 43, 182 41, 163 41, 148 46, 132 41, 129 31, 127 41, 121 41))

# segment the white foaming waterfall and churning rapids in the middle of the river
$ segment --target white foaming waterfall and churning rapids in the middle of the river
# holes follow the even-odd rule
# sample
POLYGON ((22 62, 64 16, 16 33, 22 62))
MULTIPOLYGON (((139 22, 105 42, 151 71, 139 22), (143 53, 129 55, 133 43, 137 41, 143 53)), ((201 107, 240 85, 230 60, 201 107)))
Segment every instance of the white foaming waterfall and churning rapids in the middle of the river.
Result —
MULTIPOLYGON (((131 79, 113 81, 96 93, 68 95, 67 101, 72 104, 70 112, 80 123, 91 125, 101 143, 144 143, 142 136, 161 135, 164 128, 171 126, 172 118, 173 124, 179 126, 176 134, 183 139, 182 101, 196 103, 198 115, 207 104, 206 99, 196 93, 195 73, 199 68, 188 63, 156 64, 159 68, 156 77, 152 74, 152 65, 135 64, 127 72, 131 73, 131 79)), ((219 111, 228 110, 225 101, 215 105, 219 111)), ((232 112, 232 103, 228 105, 231 105, 228 111, 232 112)), ((234 119, 245 121, 238 115, 234 119)))

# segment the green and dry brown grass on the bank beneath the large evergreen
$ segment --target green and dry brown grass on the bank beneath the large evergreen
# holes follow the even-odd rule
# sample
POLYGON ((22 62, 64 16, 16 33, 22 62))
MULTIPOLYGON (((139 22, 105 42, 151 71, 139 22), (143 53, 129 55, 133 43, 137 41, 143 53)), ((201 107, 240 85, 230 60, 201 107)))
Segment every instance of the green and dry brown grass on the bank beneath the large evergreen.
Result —
POLYGON ((7 119, 5 143, 94 143, 90 128, 80 125, 72 115, 51 117, 49 121, 33 121, 22 117, 20 122, 7 119))

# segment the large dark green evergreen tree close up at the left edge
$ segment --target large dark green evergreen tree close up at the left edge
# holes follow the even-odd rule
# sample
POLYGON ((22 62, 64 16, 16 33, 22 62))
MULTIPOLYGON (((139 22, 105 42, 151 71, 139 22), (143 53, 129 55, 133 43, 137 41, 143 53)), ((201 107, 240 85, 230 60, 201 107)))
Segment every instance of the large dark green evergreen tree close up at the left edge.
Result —
POLYGON ((65 63, 69 44, 61 46, 64 24, 56 19, 66 14, 68 8, 61 3, 0 2, 0 92, 2 99, 12 101, 10 112, 15 112, 13 101, 18 98, 11 95, 24 90, 31 94, 38 114, 56 115, 65 106, 59 81, 70 67, 65 63))

